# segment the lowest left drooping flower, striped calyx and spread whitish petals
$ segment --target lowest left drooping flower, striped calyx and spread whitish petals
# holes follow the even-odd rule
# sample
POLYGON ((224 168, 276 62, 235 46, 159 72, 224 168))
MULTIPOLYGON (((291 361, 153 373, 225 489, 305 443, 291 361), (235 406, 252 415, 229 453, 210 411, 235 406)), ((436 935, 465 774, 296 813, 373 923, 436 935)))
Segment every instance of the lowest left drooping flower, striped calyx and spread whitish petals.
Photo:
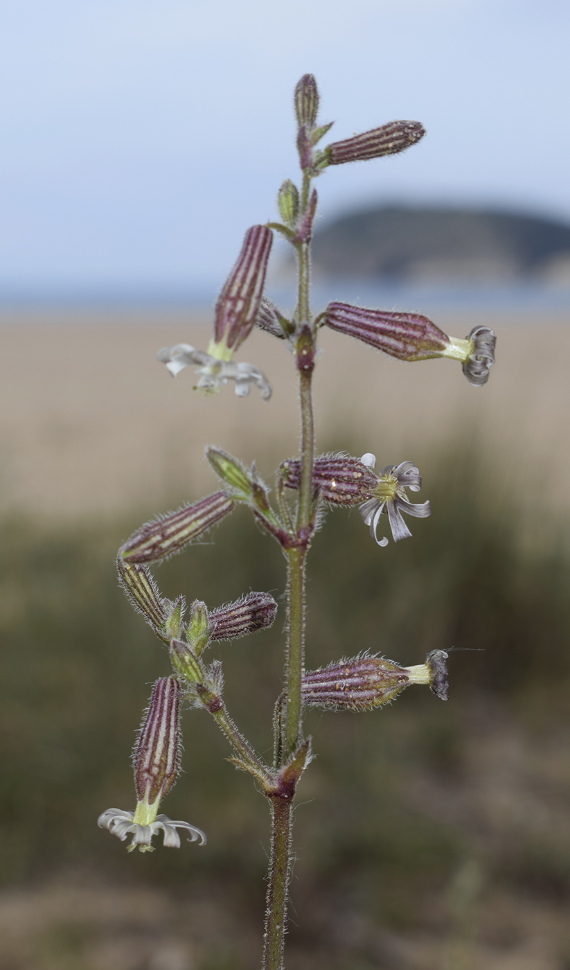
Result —
POLYGON ((178 828, 190 833, 190 842, 200 839, 201 845, 206 843, 206 835, 200 828, 187 822, 173 822, 168 816, 157 814, 161 800, 172 789, 179 771, 179 708, 178 681, 175 677, 161 677, 154 685, 135 747, 137 808, 135 812, 110 808, 98 819, 99 826, 107 828, 121 842, 129 833, 133 835, 129 852, 137 846, 141 852, 152 852, 152 836, 160 829, 165 846, 171 849, 180 848, 178 828))

